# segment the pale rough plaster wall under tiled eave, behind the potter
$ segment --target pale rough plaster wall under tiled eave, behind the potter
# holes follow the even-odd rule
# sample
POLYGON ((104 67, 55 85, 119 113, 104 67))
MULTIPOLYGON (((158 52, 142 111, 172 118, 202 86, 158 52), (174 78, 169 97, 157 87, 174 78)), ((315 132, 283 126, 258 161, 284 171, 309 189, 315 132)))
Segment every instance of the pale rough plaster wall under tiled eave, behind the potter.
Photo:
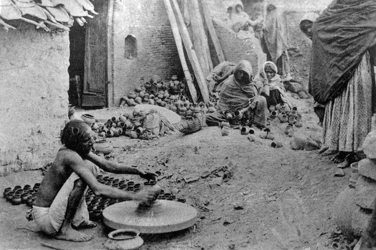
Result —
POLYGON ((0 176, 53 160, 68 105, 68 32, 0 30, 0 176))

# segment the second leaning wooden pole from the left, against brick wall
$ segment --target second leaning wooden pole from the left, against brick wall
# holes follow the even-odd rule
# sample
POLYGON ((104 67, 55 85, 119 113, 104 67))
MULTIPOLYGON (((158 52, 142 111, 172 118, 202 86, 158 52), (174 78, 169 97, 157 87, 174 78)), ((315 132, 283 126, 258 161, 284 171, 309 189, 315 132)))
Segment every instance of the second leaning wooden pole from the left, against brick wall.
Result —
POLYGON ((196 51, 193 49, 193 44, 191 38, 189 36, 187 27, 185 26, 182 13, 180 12, 179 5, 177 4, 176 0, 171 0, 173 3, 173 9, 176 12, 176 20, 180 32, 180 36, 182 37, 183 44, 185 47, 185 51, 188 55, 188 59, 191 62, 194 75, 196 77, 197 84, 199 85, 200 92, 204 102, 209 102, 209 90, 207 80, 204 77, 202 72, 199 59, 197 58, 196 51))

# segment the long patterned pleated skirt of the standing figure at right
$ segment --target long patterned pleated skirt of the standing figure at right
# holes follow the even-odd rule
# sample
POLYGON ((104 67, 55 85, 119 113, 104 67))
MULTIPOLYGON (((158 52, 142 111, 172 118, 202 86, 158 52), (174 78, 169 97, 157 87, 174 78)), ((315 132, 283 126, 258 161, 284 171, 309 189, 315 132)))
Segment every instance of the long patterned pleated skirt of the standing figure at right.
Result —
POLYGON ((346 89, 325 106, 323 143, 329 149, 360 151, 365 136, 371 131, 372 89, 368 52, 350 78, 346 89))

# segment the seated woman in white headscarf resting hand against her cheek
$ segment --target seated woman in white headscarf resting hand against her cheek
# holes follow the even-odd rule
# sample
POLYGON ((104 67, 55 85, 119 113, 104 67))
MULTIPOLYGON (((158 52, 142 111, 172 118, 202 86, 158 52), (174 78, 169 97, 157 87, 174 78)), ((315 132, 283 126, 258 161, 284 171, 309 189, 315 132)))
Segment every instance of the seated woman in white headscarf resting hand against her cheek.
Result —
POLYGON ((277 65, 273 62, 267 61, 262 65, 263 71, 260 73, 263 87, 261 95, 265 96, 267 106, 276 106, 277 104, 287 104, 290 108, 293 106, 286 95, 286 90, 280 75, 277 74, 277 65))

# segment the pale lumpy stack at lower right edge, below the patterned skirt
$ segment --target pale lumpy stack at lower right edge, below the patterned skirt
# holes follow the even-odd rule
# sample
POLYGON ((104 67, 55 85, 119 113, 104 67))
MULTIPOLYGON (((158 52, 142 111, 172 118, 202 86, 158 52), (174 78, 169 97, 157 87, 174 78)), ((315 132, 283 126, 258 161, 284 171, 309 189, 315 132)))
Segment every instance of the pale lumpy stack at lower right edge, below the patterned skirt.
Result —
POLYGON ((362 148, 367 158, 350 165, 350 185, 334 202, 334 220, 350 239, 360 237, 367 227, 376 199, 376 124, 368 133, 362 148))

